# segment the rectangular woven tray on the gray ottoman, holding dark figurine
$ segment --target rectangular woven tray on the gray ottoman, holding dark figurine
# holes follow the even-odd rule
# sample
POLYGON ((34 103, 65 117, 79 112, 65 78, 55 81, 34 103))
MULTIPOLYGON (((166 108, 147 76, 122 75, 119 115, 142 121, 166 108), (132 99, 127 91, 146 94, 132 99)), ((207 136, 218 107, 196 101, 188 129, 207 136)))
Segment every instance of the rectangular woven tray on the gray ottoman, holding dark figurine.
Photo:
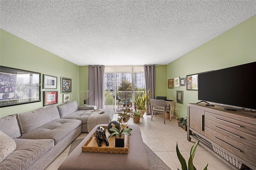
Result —
POLYGON ((82 146, 82 152, 100 152, 100 153, 111 153, 111 154, 128 154, 129 151, 129 136, 124 135, 124 148, 115 147, 115 136, 110 136, 108 133, 108 127, 102 126, 106 129, 106 137, 109 142, 109 146, 106 146, 105 142, 101 142, 101 147, 98 146, 96 138, 94 137, 95 132, 92 133, 90 138, 82 146))

